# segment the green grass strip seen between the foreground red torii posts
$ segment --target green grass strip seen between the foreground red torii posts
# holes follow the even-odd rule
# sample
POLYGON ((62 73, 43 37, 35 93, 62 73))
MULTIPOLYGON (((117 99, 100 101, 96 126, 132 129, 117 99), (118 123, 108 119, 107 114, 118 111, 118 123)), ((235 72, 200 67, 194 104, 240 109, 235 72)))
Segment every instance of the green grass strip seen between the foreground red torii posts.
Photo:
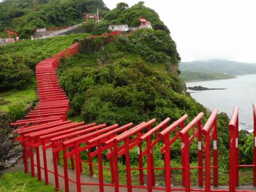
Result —
MULTIPOLYGON (((105 152, 104 152, 105 154, 105 152)), ((87 152, 84 151, 81 153, 82 159, 87 161, 87 152)), ((146 159, 144 159, 145 161, 146 159)), ((63 154, 60 153, 60 164, 63 165, 63 154)), ((106 159, 103 156, 103 166, 110 167, 109 161, 106 161, 106 159)), ((93 157, 93 164, 97 164, 97 157, 93 157)), ((164 167, 163 160, 161 161, 155 161, 155 167, 164 167)), ((82 163, 83 166, 83 174, 89 176, 89 165, 88 163, 82 163)), ((137 164, 131 164, 132 168, 138 168, 137 164)), ((180 159, 172 159, 171 161, 172 167, 181 167, 180 159)), ((192 162, 191 166, 198 166, 197 162, 192 162)), ((68 168, 71 169, 71 160, 68 158, 68 168)), ((133 185, 140 185, 140 176, 138 170, 132 170, 132 184, 133 185)), ((144 174, 144 180, 147 180, 147 170, 143 171, 144 174)), ((156 183, 159 185, 164 185, 164 170, 155 170, 156 174, 156 183)), ((97 175, 97 178, 99 178, 99 170, 98 166, 93 165, 93 175, 97 175)), ((111 183, 111 172, 108 169, 103 169, 103 175, 104 175, 104 182, 105 183, 111 183)), ((119 175, 119 183, 120 184, 127 184, 126 180, 126 170, 125 170, 125 164, 118 161, 118 175, 119 175)), ((197 186, 198 185, 198 170, 191 169, 191 186, 197 186)), ((213 185, 213 179, 211 179, 212 185, 213 185)), ((218 182, 220 186, 228 186, 229 182, 229 172, 228 170, 224 170, 221 167, 221 163, 219 165, 218 170, 218 182)), ((182 185, 182 172, 181 170, 172 170, 172 184, 173 186, 181 186, 182 185)), ((241 168, 239 170, 239 184, 244 186, 252 186, 253 184, 253 169, 250 168, 241 168)))

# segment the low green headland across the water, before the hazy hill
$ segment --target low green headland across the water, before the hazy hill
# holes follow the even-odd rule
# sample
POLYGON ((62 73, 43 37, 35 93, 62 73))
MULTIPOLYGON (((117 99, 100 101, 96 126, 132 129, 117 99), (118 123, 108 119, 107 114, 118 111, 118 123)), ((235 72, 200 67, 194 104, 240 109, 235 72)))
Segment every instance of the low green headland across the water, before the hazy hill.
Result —
POLYGON ((214 72, 190 72, 190 71, 180 72, 179 77, 185 82, 235 78, 235 76, 231 76, 228 74, 219 74, 214 72))

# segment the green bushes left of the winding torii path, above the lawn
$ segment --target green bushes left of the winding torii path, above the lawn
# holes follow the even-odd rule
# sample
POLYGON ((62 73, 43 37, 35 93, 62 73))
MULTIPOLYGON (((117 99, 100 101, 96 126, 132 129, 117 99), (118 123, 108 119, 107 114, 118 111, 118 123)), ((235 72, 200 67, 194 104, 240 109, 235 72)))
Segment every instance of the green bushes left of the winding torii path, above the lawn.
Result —
POLYGON ((22 90, 33 83, 36 63, 67 49, 86 33, 42 40, 26 40, 0 47, 0 92, 22 90))

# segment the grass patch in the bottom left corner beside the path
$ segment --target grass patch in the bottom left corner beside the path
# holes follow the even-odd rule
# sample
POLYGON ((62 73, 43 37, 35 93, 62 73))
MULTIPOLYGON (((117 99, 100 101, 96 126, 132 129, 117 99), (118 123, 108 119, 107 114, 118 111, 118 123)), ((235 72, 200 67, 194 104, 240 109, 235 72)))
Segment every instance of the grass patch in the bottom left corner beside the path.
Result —
POLYGON ((46 186, 36 177, 23 172, 6 173, 0 176, 0 191, 2 192, 52 192, 55 191, 53 185, 46 186))

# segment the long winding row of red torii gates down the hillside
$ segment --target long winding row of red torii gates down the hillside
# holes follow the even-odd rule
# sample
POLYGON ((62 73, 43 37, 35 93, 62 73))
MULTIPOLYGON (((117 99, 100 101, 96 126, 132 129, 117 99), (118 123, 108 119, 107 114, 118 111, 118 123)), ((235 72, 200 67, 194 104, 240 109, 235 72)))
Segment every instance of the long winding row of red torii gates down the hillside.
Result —
MULTIPOLYGON (((118 35, 115 31, 109 35, 118 35)), ((108 36, 108 35, 107 35, 108 36)), ((42 180, 44 170, 45 184, 49 184, 49 174, 54 174, 56 190, 60 189, 59 179, 65 180, 65 191, 69 191, 69 184, 76 184, 76 191, 81 191, 83 185, 97 185, 99 191, 104 191, 104 186, 112 186, 113 191, 120 191, 126 188, 132 191, 134 188, 153 191, 242 191, 236 189, 239 186, 239 168, 253 168, 253 185, 256 186, 256 143, 253 145, 253 164, 239 165, 238 146, 238 107, 233 110, 227 130, 230 132, 230 166, 229 166, 229 187, 227 189, 213 189, 218 186, 218 128, 217 114, 214 109, 207 122, 202 125, 204 113, 199 113, 195 118, 186 124, 188 115, 183 115, 172 124, 171 119, 166 118, 163 122, 156 124, 157 120, 152 119, 141 124, 133 125, 106 125, 95 123, 85 124, 84 122, 71 122, 67 120, 69 100, 64 90, 60 87, 56 70, 60 65, 62 57, 69 57, 79 52, 79 43, 72 45, 69 49, 62 51, 52 58, 47 58, 36 65, 36 79, 38 83, 38 96, 40 102, 25 120, 18 120, 12 125, 18 128, 15 130, 22 145, 25 173, 28 173, 28 158, 30 158, 31 176, 35 177, 37 171, 38 180, 42 180), (181 166, 173 167, 170 148, 180 141, 181 166), (198 166, 191 166, 189 150, 191 143, 198 143, 198 166), (156 167, 154 164, 153 150, 161 145, 159 153, 163 154, 163 167, 156 167), (131 166, 130 152, 132 148, 138 150, 138 168, 131 166), (49 170, 46 150, 51 150, 53 156, 54 170, 49 170), (88 160, 81 158, 81 153, 86 152, 88 160), (34 157, 34 153, 36 156, 34 157), (42 153, 43 158, 40 158, 42 153), (103 165, 102 154, 106 153, 105 161, 109 166, 103 165), (118 157, 125 154, 126 184, 120 184, 120 173, 118 170, 118 157), (58 170, 60 155, 63 156, 63 170, 61 175, 58 170), (92 159, 97 158, 98 163, 92 159), (143 164, 143 157, 147 162, 143 164), (43 161, 44 166, 41 166, 43 161), (76 179, 68 175, 68 161, 71 162, 72 170, 76 171, 76 179), (99 183, 85 183, 81 180, 84 166, 88 164, 90 175, 93 175, 93 166, 99 170, 99 183), (198 186, 191 186, 191 169, 198 170, 198 186), (104 170, 111 173, 112 182, 104 182, 104 170), (164 185, 156 186, 156 170, 164 170, 164 185), (172 170, 181 170, 182 186, 172 186, 172 170), (140 185, 132 184, 131 172, 139 172, 140 185), (143 173, 146 172, 147 175, 143 173), (145 184, 144 177, 147 177, 145 184)), ((254 138, 256 140, 256 104, 253 104, 254 138)), ((253 140, 255 142, 255 140, 253 140)), ((159 147, 158 147, 159 148, 159 147)), ((256 190, 255 190, 256 191, 256 190)))

